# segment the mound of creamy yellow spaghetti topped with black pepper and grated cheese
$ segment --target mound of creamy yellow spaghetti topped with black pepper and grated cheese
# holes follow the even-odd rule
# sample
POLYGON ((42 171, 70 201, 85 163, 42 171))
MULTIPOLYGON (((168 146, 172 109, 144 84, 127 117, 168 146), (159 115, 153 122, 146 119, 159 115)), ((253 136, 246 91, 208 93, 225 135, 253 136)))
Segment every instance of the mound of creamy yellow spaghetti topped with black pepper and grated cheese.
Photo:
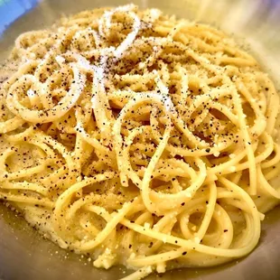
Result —
POLYGON ((23 33, 5 67, 0 198, 46 237, 127 279, 257 246, 280 198, 279 100, 226 34, 96 9, 23 33))

